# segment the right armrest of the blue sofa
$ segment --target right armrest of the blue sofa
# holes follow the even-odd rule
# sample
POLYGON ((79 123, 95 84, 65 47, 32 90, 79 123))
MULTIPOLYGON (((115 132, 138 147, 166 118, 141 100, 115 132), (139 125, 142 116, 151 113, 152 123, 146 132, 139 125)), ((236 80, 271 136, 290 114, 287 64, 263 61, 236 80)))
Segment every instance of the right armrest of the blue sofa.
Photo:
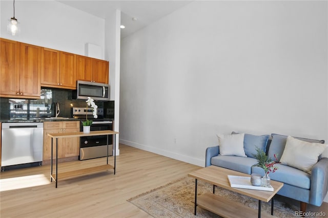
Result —
POLYGON ((321 206, 328 191, 328 158, 321 158, 311 172, 310 204, 321 206))

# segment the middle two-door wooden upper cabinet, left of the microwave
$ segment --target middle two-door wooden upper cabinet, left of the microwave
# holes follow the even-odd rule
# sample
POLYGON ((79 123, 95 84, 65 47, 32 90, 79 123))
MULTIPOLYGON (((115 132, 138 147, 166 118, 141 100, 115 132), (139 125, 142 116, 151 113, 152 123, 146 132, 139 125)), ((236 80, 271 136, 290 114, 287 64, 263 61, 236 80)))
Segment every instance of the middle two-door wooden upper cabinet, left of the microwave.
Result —
POLYGON ((76 89, 76 54, 43 48, 41 62, 42 86, 76 89))

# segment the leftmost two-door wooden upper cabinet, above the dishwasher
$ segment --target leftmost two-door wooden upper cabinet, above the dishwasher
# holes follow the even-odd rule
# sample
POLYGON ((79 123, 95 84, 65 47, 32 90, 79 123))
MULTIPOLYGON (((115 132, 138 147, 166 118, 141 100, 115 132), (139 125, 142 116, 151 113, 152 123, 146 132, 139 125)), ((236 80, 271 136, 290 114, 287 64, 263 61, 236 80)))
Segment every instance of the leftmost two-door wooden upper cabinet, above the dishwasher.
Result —
POLYGON ((1 41, 0 97, 40 98, 41 47, 1 41))

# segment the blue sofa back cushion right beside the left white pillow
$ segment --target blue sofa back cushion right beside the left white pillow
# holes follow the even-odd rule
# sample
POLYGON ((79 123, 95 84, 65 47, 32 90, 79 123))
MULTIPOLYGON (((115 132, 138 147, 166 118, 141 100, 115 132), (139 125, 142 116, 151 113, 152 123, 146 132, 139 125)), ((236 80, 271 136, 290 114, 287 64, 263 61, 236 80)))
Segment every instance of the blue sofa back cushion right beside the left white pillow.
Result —
MULTIPOLYGON (((232 132, 231 134, 238 134, 236 132, 232 132)), ((267 143, 269 140, 269 135, 255 136, 251 134, 245 134, 244 136, 244 150, 245 155, 247 157, 255 158, 256 147, 263 150, 265 152, 267 148, 267 143)))

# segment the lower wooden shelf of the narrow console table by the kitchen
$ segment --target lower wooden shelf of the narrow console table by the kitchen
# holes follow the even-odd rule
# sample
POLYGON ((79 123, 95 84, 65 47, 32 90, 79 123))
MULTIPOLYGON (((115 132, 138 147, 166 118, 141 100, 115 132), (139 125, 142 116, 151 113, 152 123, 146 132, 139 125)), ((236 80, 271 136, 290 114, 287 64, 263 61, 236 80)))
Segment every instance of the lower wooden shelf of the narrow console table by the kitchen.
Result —
MULTIPOLYGON (((72 171, 67 171, 67 172, 58 172, 57 173, 57 179, 65 179, 65 178, 71 178, 71 177, 77 177, 80 175, 85 175, 93 172, 98 172, 98 171, 103 171, 103 170, 108 170, 108 169, 114 169, 114 166, 110 164, 104 164, 104 165, 99 165, 99 166, 93 166, 93 167, 88 167, 88 168, 83 168, 83 169, 76 169, 72 171)), ((52 179, 56 181, 56 174, 53 173, 51 175, 52 179)))

